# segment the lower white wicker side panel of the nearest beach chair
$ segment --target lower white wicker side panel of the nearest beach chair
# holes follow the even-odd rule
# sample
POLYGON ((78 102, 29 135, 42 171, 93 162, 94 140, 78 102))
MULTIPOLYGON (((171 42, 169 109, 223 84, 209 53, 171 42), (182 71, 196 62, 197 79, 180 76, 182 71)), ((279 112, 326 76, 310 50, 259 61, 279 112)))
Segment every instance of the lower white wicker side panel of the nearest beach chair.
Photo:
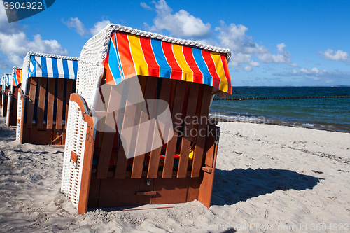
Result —
POLYGON ((83 121, 80 108, 73 101, 69 101, 67 124, 61 190, 78 209, 87 122, 83 121), (71 162, 71 151, 78 155, 77 164, 71 162))

